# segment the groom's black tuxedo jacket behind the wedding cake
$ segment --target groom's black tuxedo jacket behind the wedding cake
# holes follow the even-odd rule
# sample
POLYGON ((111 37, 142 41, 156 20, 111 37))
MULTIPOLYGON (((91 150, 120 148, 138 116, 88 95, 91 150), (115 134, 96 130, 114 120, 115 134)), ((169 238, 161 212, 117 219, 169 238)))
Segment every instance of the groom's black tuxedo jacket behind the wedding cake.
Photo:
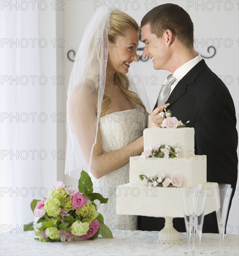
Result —
MULTIPOLYGON (((234 195, 238 134, 235 107, 226 85, 202 60, 178 82, 166 103, 170 103, 173 116, 183 123, 189 120, 187 127, 194 128, 195 155, 207 155, 207 181, 232 184, 234 195)), ((164 219, 138 216, 138 226, 161 230, 164 219)), ((174 228, 186 232, 184 219, 174 218, 174 228)), ((218 232, 215 212, 205 216, 203 232, 218 232)))

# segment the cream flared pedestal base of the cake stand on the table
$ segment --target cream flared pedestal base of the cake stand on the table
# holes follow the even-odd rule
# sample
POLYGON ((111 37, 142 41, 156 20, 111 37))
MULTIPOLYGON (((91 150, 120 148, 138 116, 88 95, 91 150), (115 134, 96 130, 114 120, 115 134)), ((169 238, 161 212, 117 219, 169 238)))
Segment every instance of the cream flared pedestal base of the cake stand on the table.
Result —
POLYGON ((174 229, 173 218, 164 217, 165 225, 162 230, 159 231, 159 238, 155 240, 155 243, 169 243, 169 244, 178 244, 185 243, 184 240, 179 238, 179 232, 174 229))

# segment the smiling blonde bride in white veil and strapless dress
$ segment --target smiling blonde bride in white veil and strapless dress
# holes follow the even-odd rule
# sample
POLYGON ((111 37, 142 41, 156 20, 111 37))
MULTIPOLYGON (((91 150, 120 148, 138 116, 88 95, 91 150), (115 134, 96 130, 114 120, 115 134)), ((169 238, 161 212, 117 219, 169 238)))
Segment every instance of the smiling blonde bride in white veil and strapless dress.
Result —
POLYGON ((128 14, 98 10, 85 30, 68 88, 65 173, 79 178, 82 169, 88 171, 94 191, 109 198, 99 210, 111 230, 137 229, 136 216, 117 215, 116 187, 129 182, 129 157, 141 155, 147 123, 159 126, 163 120, 164 106, 149 115, 142 81, 136 85, 126 75, 138 60, 138 32, 128 14))

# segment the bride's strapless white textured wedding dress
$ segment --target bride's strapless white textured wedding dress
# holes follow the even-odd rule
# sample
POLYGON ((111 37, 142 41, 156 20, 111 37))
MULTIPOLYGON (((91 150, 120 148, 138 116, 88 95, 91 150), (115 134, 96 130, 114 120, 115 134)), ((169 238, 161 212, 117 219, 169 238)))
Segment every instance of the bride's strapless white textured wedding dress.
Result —
MULTIPOLYGON (((125 147, 142 136, 146 126, 146 115, 138 109, 128 109, 102 116, 99 120, 99 129, 103 150, 110 152, 125 147)), ((120 155, 119 153, 116 151, 114 155, 109 154, 106 157, 120 158, 127 154, 127 152, 125 152, 125 155, 120 155)), ((100 179, 93 177, 92 182, 94 192, 109 198, 108 202, 101 204, 99 208, 104 217, 105 225, 112 231, 137 230, 137 216, 117 215, 116 213, 116 196, 119 193, 127 192, 119 191, 116 187, 129 183, 129 163, 110 174, 104 175, 100 179)))

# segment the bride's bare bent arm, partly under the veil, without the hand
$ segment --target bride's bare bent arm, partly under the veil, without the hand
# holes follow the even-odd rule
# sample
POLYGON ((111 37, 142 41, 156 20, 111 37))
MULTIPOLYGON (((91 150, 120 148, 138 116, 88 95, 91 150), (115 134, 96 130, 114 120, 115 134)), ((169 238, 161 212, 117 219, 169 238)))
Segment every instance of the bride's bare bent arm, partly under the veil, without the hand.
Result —
MULTIPOLYGON (((97 98, 87 88, 75 89, 69 100, 72 127, 77 138, 78 145, 89 166, 91 148, 96 137, 97 125, 97 98)), ((100 178, 129 162, 130 156, 140 155, 143 151, 143 137, 129 145, 111 152, 103 152, 102 140, 98 128, 97 142, 93 148, 90 172, 100 178), (121 157, 114 157, 121 155, 121 157)))

